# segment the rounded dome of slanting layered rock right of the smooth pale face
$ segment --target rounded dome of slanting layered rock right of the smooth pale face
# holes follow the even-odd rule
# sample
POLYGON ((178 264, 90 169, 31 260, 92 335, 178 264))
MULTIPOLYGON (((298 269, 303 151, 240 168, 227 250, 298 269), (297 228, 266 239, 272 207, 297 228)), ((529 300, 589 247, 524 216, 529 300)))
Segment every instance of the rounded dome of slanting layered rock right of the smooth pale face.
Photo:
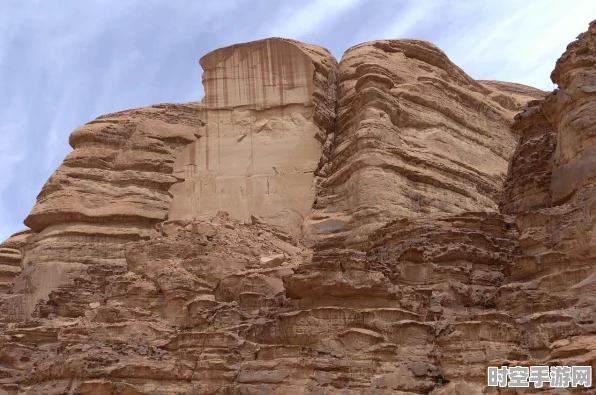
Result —
POLYGON ((337 96, 333 160, 309 229, 334 243, 403 216, 497 212, 514 111, 544 93, 479 83, 428 42, 388 40, 346 51, 337 96))

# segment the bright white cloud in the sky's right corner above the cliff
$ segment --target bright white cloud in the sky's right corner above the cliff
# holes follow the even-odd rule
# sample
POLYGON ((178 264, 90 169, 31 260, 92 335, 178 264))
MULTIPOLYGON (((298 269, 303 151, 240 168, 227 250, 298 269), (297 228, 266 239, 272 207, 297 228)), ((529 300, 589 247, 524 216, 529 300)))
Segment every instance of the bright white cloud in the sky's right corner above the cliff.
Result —
POLYGON ((596 2, 454 0, 437 14, 449 22, 429 39, 472 77, 550 90, 556 60, 596 17, 596 2))

